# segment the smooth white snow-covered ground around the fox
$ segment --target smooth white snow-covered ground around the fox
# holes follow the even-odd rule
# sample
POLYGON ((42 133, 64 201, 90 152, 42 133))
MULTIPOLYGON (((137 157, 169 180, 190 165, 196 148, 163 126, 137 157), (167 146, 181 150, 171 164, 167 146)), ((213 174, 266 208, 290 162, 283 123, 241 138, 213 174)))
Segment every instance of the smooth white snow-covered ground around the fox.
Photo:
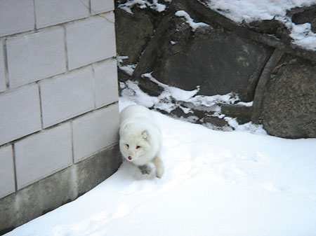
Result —
MULTIPOLYGON (((129 104, 120 98, 120 109, 129 104)), ((152 112, 163 134, 162 179, 124 162, 7 236, 316 235, 316 139, 221 132, 152 112)))

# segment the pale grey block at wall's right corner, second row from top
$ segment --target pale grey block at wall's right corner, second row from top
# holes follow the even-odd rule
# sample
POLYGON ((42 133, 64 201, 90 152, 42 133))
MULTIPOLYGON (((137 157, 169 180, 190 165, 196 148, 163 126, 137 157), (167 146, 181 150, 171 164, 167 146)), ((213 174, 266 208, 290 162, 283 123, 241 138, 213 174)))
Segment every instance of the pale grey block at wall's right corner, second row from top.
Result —
POLYGON ((69 69, 116 55, 113 13, 71 22, 66 35, 69 69))

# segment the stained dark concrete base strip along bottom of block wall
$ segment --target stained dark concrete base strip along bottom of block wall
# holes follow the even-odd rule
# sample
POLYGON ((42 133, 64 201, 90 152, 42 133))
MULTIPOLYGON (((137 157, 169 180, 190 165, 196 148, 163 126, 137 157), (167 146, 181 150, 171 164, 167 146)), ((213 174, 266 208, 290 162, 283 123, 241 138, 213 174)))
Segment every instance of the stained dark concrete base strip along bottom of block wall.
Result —
MULTIPOLYGON (((111 176, 120 163, 119 147, 113 146, 0 199, 0 235, 76 199, 111 176)), ((15 234, 23 235, 20 230, 15 234)))

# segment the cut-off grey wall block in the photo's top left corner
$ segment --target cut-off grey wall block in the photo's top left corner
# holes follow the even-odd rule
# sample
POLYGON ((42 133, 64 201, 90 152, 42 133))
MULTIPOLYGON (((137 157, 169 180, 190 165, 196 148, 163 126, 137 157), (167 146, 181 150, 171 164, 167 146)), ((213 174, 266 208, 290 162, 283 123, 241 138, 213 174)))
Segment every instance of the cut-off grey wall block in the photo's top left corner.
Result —
POLYGON ((0 0, 0 37, 34 29, 32 0, 0 0))

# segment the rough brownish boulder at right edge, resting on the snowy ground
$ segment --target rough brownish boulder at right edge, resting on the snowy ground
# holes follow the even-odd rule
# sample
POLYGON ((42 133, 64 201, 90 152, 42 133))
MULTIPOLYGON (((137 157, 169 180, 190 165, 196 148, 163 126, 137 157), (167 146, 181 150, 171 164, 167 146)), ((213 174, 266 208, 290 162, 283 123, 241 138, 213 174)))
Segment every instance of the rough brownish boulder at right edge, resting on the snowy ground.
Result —
POLYGON ((268 81, 262 107, 263 127, 285 138, 316 137, 316 66, 284 58, 268 81))

